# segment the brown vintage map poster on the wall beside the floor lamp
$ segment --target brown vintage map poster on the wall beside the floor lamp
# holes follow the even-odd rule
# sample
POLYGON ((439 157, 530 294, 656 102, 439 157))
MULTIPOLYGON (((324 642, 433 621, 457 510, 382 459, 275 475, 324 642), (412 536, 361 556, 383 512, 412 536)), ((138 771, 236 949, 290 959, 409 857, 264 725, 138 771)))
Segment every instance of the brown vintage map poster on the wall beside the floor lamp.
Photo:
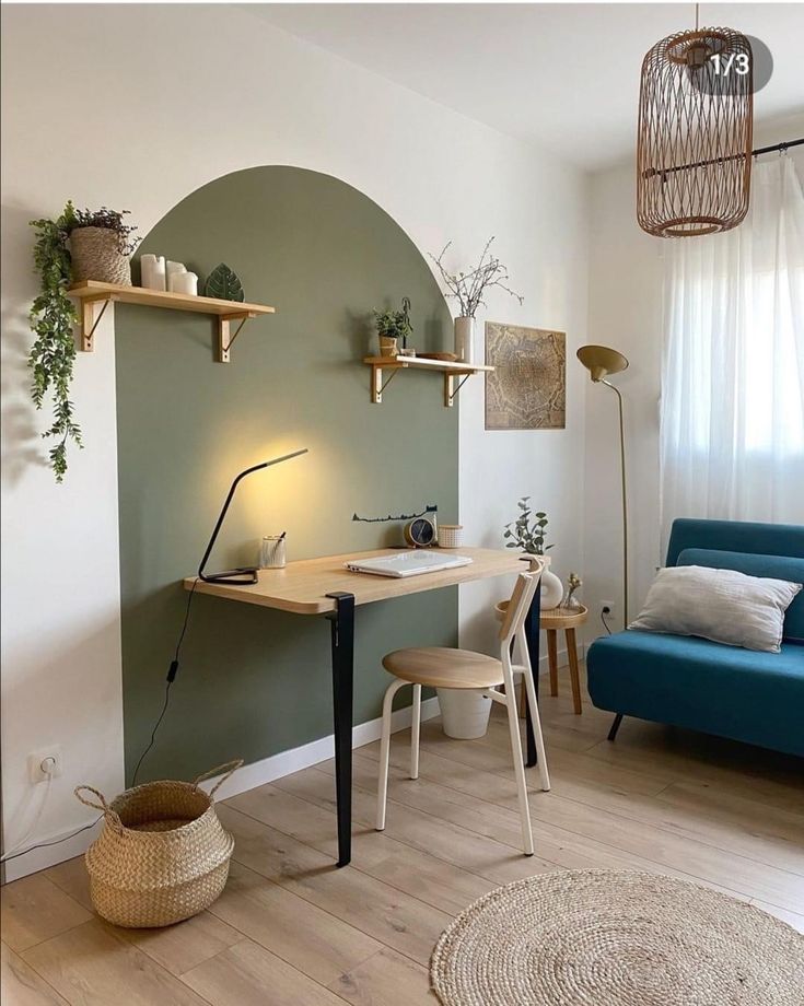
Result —
POLYGON ((486 323, 487 430, 563 430, 567 337, 562 331, 486 323))

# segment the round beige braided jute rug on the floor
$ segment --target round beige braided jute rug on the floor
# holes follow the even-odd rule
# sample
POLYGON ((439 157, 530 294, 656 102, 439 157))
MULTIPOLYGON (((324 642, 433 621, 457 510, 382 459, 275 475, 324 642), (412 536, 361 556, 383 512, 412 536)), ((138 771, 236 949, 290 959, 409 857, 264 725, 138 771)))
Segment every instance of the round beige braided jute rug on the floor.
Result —
POLYGON ((431 960, 444 1006, 804 1006, 804 937, 636 870, 538 874, 480 898, 431 960))

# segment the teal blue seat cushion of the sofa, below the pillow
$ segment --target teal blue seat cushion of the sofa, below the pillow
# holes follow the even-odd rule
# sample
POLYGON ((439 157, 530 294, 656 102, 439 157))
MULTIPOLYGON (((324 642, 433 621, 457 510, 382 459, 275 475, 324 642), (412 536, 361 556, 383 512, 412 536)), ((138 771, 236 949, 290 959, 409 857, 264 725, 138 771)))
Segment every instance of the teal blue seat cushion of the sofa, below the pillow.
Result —
POLYGON ((631 630, 596 640, 586 666, 598 709, 804 756, 804 646, 757 653, 631 630))

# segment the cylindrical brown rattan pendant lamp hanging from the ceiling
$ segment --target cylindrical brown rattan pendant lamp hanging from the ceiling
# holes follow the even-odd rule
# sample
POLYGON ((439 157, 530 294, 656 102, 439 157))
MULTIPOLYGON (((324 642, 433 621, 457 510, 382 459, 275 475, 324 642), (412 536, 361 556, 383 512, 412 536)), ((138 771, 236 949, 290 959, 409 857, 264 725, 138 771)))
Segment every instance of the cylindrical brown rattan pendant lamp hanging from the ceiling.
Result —
POLYGON ((732 28, 679 32, 642 62, 637 220, 656 237, 729 231, 748 212, 753 54, 732 28))

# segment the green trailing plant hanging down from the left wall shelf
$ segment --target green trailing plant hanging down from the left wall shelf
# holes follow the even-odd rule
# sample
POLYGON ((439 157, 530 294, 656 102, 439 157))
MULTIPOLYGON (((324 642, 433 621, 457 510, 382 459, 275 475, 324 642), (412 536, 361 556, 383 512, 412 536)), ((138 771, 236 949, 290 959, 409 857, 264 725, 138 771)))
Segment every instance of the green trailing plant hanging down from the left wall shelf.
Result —
POLYGON ((68 441, 82 446, 81 429, 74 421, 70 401, 75 361, 72 326, 78 315, 67 295, 72 274, 67 238, 75 223, 75 210, 71 202, 67 203, 57 220, 31 221, 36 232, 34 265, 42 281, 42 292, 32 304, 30 315, 31 328, 36 334, 28 355, 28 366, 33 372, 31 395, 37 409, 42 408, 48 391, 53 396, 53 425, 42 435, 56 441, 50 447, 49 458, 57 482, 61 482, 67 472, 68 441))

